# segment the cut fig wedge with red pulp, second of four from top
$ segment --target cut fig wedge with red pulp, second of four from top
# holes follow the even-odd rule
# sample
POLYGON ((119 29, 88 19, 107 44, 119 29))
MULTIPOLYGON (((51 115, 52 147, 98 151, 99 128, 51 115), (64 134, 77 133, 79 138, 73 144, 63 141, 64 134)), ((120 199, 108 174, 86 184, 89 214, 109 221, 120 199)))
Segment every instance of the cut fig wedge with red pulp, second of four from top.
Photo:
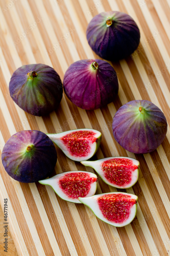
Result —
POLYGON ((139 161, 134 158, 114 156, 81 163, 94 168, 105 183, 115 188, 130 188, 138 180, 139 161))

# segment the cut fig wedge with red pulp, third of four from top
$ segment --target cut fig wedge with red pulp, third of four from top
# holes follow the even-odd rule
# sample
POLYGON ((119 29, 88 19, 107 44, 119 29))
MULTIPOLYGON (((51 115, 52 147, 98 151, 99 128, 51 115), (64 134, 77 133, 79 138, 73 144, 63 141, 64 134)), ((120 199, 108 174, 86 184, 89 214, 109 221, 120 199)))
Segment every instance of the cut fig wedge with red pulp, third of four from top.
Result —
POLYGON ((97 175, 84 171, 59 173, 39 182, 51 186, 63 200, 79 204, 79 197, 93 196, 97 189, 97 175))

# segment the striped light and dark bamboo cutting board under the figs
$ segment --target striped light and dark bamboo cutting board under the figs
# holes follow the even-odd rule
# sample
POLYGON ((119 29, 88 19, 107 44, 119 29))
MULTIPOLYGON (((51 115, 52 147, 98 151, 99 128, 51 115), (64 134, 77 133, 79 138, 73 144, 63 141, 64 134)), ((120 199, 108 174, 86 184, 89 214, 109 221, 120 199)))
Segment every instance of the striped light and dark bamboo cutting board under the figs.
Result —
MULTIPOLYGON (((140 162, 138 182, 123 190, 138 196, 137 214, 131 224, 122 228, 100 221, 83 204, 62 200, 49 186, 13 180, 0 163, 0 204, 4 210, 4 198, 8 199, 8 228, 18 255, 169 255, 170 1, 0 0, 0 17, 0 151, 9 137, 21 130, 58 133, 93 128, 102 132, 101 145, 93 159, 129 156, 140 162), (44 63, 63 80, 74 61, 99 58, 88 45, 86 27, 93 16, 108 10, 128 13, 141 33, 140 45, 132 56, 110 62, 119 79, 115 101, 101 109, 85 111, 64 95, 59 109, 46 117, 32 116, 20 109, 8 91, 12 73, 25 64, 44 63), (165 140, 150 154, 125 151, 113 138, 114 114, 134 99, 153 102, 168 122, 165 140)), ((58 160, 53 175, 70 170, 94 172, 69 160, 59 148, 56 150, 58 160)), ((116 189, 99 179, 97 194, 110 191, 116 189)), ((3 228, 1 241, 4 231, 3 228)), ((7 255, 1 249, 0 255, 7 255)))

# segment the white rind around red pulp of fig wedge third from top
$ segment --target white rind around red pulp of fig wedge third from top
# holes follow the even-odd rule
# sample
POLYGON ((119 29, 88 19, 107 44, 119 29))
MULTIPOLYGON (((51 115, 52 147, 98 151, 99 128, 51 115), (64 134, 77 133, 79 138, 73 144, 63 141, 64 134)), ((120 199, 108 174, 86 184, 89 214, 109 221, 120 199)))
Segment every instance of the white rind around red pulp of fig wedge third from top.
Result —
MULTIPOLYGON (((59 173, 56 174, 55 176, 49 178, 49 179, 43 179, 43 180, 39 180, 38 182, 43 184, 43 185, 49 185, 50 187, 53 188, 53 190, 55 191, 55 193, 61 197, 63 200, 69 201, 69 202, 73 202, 73 203, 78 203, 81 204, 81 202, 79 201, 78 198, 70 198, 68 197, 60 188, 59 185, 59 179, 61 177, 64 176, 64 174, 68 174, 68 173, 87 173, 90 175, 90 177, 94 177, 97 178, 97 175, 91 172, 85 172, 85 171, 70 171, 70 172, 64 172, 64 173, 59 173)), ((90 190, 89 193, 86 195, 86 197, 88 196, 93 196, 96 193, 96 189, 97 189, 97 181, 91 183, 90 185, 90 190)))

